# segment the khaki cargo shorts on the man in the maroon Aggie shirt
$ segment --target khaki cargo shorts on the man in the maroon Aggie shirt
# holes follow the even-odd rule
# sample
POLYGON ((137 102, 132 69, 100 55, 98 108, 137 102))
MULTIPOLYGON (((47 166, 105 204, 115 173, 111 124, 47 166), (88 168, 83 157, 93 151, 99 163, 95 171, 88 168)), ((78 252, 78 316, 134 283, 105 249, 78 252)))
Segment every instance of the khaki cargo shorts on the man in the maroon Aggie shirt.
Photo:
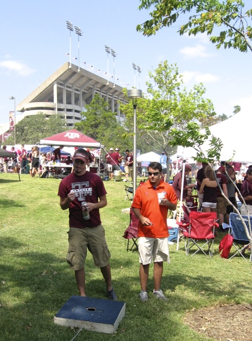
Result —
POLYGON ((96 227, 70 227, 68 233, 68 252, 66 261, 73 270, 84 267, 87 249, 92 253, 97 267, 108 265, 110 252, 105 239, 105 230, 102 225, 96 227))

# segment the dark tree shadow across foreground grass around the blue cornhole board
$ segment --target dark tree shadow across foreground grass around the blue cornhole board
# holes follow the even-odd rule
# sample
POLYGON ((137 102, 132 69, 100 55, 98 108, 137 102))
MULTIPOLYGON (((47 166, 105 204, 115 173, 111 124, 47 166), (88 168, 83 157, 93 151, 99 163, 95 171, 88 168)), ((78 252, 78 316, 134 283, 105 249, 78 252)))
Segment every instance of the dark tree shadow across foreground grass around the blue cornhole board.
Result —
MULTIPOLYGON (((69 270, 64 255, 37 252, 32 246, 20 244, 15 238, 1 238, 1 245, 5 248, 5 254, 8 252, 12 255, 8 264, 0 261, 0 280, 4 282, 0 284, 2 340, 72 340, 75 330, 53 322, 53 317, 61 306, 71 296, 78 295, 74 271, 69 270)), ((122 264, 121 258, 114 257, 111 262, 112 274, 116 273, 113 285, 117 298, 126 302, 126 315, 113 335, 114 340, 132 340, 133 335, 137 335, 139 341, 165 340, 164 335, 169 335, 170 340, 183 340, 181 335, 185 328, 186 340, 206 340, 185 327, 179 315, 195 306, 195 295, 203 297, 206 302, 208 299, 216 302, 223 295, 234 296, 241 290, 241 284, 235 286, 233 283, 224 287, 220 280, 209 274, 171 274, 168 271, 169 274, 163 277, 162 282, 162 287, 167 288, 165 291, 168 301, 163 302, 155 299, 151 293, 153 279, 150 269, 149 301, 142 303, 138 297, 138 257, 136 258, 136 264, 134 259, 123 260, 125 268, 132 267, 130 275, 127 272, 126 276, 123 269, 118 271, 122 264), (183 295, 183 287, 192 295, 183 295)), ((99 269, 95 268, 92 257, 87 259, 85 271, 88 296, 105 299, 105 283, 99 269)), ((84 333, 85 340, 107 341, 112 338, 111 335, 91 331, 81 333, 84 333)))

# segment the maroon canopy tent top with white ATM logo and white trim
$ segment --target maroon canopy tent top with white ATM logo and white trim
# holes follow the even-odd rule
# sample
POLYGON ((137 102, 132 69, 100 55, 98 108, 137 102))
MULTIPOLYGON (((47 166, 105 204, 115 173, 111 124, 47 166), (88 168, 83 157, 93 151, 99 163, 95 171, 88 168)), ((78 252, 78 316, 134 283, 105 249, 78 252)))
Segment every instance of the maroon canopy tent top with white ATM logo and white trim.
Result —
POLYGON ((40 140, 40 145, 47 146, 65 146, 65 147, 85 147, 85 148, 100 148, 100 143, 93 138, 86 136, 76 129, 67 132, 59 133, 40 140))

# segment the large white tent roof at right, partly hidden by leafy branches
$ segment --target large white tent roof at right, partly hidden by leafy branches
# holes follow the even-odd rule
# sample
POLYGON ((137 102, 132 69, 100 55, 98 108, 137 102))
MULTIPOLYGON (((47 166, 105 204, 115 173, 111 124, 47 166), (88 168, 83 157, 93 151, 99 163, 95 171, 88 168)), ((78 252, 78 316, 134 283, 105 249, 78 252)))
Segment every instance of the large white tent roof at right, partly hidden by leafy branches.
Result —
MULTIPOLYGON (((229 119, 214 124, 209 127, 211 134, 219 137, 223 143, 221 150, 221 161, 227 161, 232 158, 236 162, 252 162, 252 153, 250 152, 251 134, 252 134, 252 111, 240 111, 229 119)), ((202 150, 209 149, 209 141, 202 145, 202 150)), ((182 155, 181 147, 178 148, 177 154, 182 155)), ((196 156, 193 148, 184 148, 183 158, 196 156)))

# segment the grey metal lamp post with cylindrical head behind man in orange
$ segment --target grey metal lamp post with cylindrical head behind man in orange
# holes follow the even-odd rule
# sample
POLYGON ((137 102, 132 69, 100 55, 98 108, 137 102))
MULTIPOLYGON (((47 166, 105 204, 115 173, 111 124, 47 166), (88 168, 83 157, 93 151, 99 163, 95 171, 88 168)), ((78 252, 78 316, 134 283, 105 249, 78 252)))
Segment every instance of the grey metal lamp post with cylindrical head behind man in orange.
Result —
POLYGON ((142 97, 142 90, 133 89, 127 91, 128 98, 132 99, 134 109, 134 141, 133 141, 133 197, 136 193, 136 107, 137 99, 142 97))

